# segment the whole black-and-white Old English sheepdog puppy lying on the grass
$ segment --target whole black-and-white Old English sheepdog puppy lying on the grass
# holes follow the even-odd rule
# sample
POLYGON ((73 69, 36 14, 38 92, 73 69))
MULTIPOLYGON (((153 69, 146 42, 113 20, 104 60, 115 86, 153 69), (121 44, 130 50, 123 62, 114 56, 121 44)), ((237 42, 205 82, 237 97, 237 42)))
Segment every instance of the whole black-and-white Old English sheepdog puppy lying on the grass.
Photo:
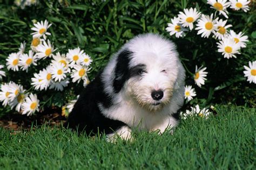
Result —
POLYGON ((87 85, 66 125, 124 139, 131 137, 133 127, 164 132, 178 124, 184 77, 173 42, 157 34, 139 35, 87 85))

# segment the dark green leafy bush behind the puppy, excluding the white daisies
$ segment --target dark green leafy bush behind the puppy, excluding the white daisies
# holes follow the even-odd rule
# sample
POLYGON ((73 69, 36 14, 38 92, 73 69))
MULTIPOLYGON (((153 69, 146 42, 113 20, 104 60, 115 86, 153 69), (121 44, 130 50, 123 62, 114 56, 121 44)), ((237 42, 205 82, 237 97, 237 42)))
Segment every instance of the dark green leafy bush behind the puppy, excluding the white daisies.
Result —
MULTIPOLYGON (((17 2, 17 1, 15 1, 17 2)), ((204 107, 214 103, 232 103, 255 107, 255 83, 247 82, 244 77, 244 67, 249 61, 255 61, 255 4, 251 2, 250 10, 235 11, 228 8, 230 29, 242 31, 248 36, 246 48, 241 48, 237 58, 224 58, 218 52, 217 42, 212 38, 201 38, 198 30, 187 31, 186 36, 176 38, 170 36, 165 29, 173 17, 177 17, 184 9, 196 8, 205 15, 215 13, 207 1, 36 1, 36 4, 14 4, 3 1, 1 8, 1 42, 0 64, 5 65, 11 53, 18 52, 21 42, 27 42, 25 53, 29 53, 32 41, 31 27, 33 23, 49 21, 52 25, 47 30, 51 36, 47 39, 57 47, 57 52, 67 54, 69 49, 80 47, 91 56, 88 79, 93 77, 106 65, 114 52, 129 39, 140 33, 159 33, 173 40, 178 47, 180 59, 186 68, 186 84, 191 85, 197 95, 187 105, 199 104, 204 107), (194 83, 195 67, 207 67, 205 85, 198 87, 194 83)), ((223 15, 216 14, 219 19, 226 20, 223 15)), ((194 23, 196 27, 196 23, 194 23)), ((187 28, 188 29, 188 28, 187 28)), ((230 30, 227 29, 227 30, 230 30)), ((63 107, 69 101, 76 99, 83 87, 83 81, 71 82, 63 91, 53 89, 35 90, 31 79, 51 63, 51 59, 38 60, 37 66, 31 66, 28 72, 19 69, 18 72, 7 70, 4 82, 13 81, 26 89, 26 94, 37 94, 40 108, 63 107)), ((71 105, 72 107, 72 105, 71 105)), ((65 108, 64 108, 65 109, 65 108)), ((10 109, 3 109, 9 112, 10 109)))

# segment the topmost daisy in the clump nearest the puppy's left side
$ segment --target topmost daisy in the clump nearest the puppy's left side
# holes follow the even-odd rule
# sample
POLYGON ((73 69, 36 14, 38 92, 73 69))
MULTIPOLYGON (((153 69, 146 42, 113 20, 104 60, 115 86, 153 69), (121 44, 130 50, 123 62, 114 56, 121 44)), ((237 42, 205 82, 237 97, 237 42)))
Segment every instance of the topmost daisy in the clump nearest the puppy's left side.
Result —
POLYGON ((79 47, 75 49, 69 49, 68 54, 66 57, 70 61, 71 67, 75 66, 75 64, 79 64, 81 61, 82 56, 85 55, 83 50, 80 50, 79 47))

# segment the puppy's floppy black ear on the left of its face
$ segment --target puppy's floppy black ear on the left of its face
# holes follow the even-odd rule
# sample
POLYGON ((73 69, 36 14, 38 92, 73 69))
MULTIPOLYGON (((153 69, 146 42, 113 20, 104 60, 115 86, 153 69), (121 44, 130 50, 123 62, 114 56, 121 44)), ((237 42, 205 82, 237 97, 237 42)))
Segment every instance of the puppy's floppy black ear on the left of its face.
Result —
POLYGON ((126 80, 129 79, 129 63, 131 60, 132 52, 124 49, 117 56, 116 67, 114 68, 114 81, 113 88, 114 93, 119 93, 119 91, 124 86, 126 80))

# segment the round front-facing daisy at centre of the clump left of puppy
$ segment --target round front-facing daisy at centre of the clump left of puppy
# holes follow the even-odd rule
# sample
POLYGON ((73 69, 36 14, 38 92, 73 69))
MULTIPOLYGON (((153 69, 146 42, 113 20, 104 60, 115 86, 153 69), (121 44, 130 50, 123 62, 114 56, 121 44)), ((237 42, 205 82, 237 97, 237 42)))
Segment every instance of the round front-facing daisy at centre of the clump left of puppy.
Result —
POLYGON ((68 69, 66 69, 63 63, 57 62, 51 65, 51 75, 55 81, 64 80, 66 73, 68 73, 68 69))

